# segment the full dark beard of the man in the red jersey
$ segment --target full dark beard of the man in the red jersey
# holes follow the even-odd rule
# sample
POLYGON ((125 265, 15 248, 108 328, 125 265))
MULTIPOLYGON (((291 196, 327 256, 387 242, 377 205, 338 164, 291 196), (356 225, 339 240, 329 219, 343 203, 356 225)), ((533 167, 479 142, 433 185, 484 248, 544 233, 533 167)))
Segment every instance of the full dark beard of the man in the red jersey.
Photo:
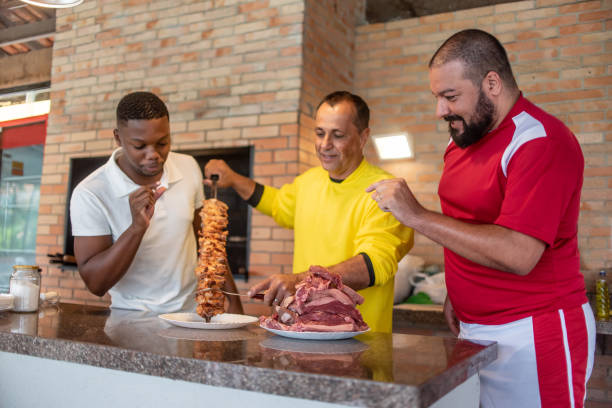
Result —
POLYGON ((493 113, 495 112, 495 106, 493 102, 484 94, 482 89, 478 93, 478 101, 476 102, 476 108, 474 109, 473 122, 467 124, 461 116, 448 115, 444 117, 444 120, 448 122, 448 131, 451 138, 457 146, 465 149, 468 146, 473 145, 480 139, 482 139, 487 132, 490 130, 493 124, 493 113), (454 129, 451 126, 451 122, 454 120, 460 120, 463 122, 463 133, 459 133, 458 129, 454 129))

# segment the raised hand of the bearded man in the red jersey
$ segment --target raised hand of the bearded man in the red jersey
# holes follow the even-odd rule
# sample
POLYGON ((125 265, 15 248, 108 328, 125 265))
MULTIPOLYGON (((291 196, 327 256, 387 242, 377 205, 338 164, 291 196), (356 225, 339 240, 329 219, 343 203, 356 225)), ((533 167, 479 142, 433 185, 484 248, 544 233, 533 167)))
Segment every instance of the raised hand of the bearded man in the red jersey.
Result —
POLYGON ((426 211, 402 178, 378 181, 369 186, 366 192, 372 193, 372 199, 381 210, 391 212, 408 227, 414 227, 420 215, 426 211))

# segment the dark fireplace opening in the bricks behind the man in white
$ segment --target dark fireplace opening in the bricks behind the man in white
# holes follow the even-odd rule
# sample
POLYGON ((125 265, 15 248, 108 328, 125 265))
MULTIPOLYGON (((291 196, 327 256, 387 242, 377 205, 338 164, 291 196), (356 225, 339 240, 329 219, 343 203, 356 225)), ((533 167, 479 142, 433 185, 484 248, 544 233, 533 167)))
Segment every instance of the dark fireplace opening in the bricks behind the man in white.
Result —
MULTIPOLYGON (((193 156, 198 162, 202 174, 204 167, 211 159, 222 159, 237 173, 251 177, 253 148, 232 147, 217 149, 177 150, 177 153, 193 156)), ((74 188, 91 172, 102 166, 109 159, 107 156, 75 157, 70 159, 70 172, 68 178, 68 196, 66 198, 66 216, 64 229, 64 253, 63 255, 74 256, 74 237, 72 236, 72 224, 70 223, 70 197, 74 188)), ((204 186, 206 197, 211 196, 210 189, 204 186)), ((219 188, 217 198, 225 202, 228 207, 229 225, 227 237, 227 260, 230 270, 235 278, 249 279, 248 269, 248 236, 250 214, 248 204, 231 188, 219 188)), ((65 256, 64 256, 65 259, 65 256)))

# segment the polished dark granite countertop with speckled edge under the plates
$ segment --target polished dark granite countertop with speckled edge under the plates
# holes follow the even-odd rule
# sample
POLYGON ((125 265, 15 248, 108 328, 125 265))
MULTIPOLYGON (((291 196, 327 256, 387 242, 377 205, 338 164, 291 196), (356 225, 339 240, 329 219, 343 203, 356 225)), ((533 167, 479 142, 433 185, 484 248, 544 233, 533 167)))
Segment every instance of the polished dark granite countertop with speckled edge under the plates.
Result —
POLYGON ((494 343, 366 333, 279 337, 251 324, 175 327, 156 315, 59 304, 0 312, 0 351, 352 406, 425 407, 497 355, 494 343))

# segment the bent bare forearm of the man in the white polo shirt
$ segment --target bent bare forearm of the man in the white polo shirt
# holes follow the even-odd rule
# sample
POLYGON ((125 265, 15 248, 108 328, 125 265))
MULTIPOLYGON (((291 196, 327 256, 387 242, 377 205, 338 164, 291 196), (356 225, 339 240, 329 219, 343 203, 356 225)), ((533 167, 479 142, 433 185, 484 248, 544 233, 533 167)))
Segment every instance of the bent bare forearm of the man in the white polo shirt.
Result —
MULTIPOLYGON (((93 294, 103 296, 125 275, 143 236, 144 231, 130 227, 108 248, 78 263, 79 273, 93 294)), ((75 253, 79 253, 76 246, 75 253)))

